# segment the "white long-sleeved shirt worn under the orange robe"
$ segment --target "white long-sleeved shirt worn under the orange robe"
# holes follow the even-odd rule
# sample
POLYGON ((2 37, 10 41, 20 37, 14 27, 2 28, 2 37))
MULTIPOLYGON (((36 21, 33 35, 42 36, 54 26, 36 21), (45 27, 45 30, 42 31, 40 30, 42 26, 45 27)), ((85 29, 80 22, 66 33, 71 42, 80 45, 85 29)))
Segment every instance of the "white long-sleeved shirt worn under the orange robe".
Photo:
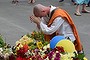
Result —
MULTIPOLYGON (((54 10, 56 7, 51 6, 50 13, 52 10, 54 10)), ((50 15, 50 14, 49 14, 50 15)), ((64 37, 69 37, 71 41, 75 40, 74 34, 72 32, 72 29, 67 21, 63 20, 61 17, 57 17, 52 25, 50 27, 47 26, 47 22, 49 20, 49 17, 42 17, 40 22, 41 30, 45 34, 53 34, 54 32, 58 32, 59 35, 63 35, 64 37)))

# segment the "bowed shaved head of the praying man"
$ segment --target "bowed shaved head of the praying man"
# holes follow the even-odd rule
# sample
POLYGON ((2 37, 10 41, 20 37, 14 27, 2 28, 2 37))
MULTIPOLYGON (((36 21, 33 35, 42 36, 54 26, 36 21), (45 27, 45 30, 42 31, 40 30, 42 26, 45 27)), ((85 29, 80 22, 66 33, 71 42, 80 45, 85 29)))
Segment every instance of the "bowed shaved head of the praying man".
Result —
POLYGON ((37 4, 33 8, 33 13, 37 17, 42 17, 42 15, 44 15, 44 13, 47 12, 47 8, 48 7, 46 7, 46 6, 42 5, 42 4, 37 4))

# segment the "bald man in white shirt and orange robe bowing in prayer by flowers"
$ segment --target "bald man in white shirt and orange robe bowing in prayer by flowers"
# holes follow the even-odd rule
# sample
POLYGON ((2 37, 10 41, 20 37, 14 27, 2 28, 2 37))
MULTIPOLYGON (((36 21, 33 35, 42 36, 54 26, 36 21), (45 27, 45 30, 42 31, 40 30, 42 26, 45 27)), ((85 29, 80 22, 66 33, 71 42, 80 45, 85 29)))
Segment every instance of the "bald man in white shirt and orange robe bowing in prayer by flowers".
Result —
POLYGON ((82 51, 80 38, 70 15, 63 9, 55 6, 37 4, 33 8, 34 15, 30 20, 45 34, 45 39, 50 41, 56 35, 63 35, 70 39, 78 52, 82 51))

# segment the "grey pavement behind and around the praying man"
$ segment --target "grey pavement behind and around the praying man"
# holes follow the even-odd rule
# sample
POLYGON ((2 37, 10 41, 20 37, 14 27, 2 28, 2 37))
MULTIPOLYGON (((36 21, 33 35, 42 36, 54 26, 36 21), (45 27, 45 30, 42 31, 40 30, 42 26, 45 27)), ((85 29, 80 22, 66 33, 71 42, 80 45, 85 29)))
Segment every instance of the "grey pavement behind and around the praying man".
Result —
MULTIPOLYGON (((90 60, 90 13, 81 13, 82 16, 75 16, 75 5, 69 0, 61 3, 58 2, 59 0, 36 0, 34 4, 28 4, 28 0, 19 0, 17 5, 12 4, 11 1, 0 0, 0 34, 6 43, 13 46, 23 35, 37 30, 35 24, 29 20, 35 4, 54 5, 61 7, 71 15, 79 32, 86 57, 90 60)), ((90 7, 86 8, 90 10, 90 7)))

